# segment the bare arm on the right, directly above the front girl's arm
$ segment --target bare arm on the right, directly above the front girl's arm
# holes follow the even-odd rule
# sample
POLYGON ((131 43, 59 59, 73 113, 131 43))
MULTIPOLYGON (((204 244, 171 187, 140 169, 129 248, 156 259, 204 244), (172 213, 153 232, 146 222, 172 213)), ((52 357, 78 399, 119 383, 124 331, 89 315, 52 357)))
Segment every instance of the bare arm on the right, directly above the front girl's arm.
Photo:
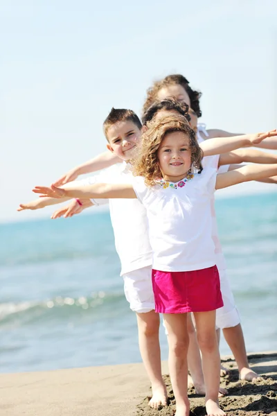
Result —
POLYGON ((252 148, 241 148, 233 152, 223 153, 220 155, 219 166, 225 164, 240 164, 243 162, 271 164, 277 163, 277 155, 274 153, 265 153, 261 150, 252 148))

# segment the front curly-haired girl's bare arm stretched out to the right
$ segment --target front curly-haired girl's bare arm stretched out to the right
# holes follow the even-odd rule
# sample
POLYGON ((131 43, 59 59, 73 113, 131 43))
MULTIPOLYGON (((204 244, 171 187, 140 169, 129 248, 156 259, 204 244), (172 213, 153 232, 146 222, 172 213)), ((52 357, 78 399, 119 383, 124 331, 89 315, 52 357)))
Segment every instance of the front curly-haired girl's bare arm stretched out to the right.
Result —
POLYGON ((219 173, 215 182, 215 189, 231 187, 235 184, 250 180, 262 180, 277 175, 277 164, 252 164, 242 166, 226 173, 219 173))

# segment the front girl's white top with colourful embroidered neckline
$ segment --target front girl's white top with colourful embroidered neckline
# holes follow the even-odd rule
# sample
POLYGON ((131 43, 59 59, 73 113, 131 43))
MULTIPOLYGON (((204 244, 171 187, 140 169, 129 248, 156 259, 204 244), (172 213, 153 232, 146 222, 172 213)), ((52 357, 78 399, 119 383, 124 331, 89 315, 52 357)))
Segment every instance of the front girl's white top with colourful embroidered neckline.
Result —
POLYGON ((204 168, 184 187, 146 187, 134 177, 136 196, 146 208, 154 270, 181 272, 215 265, 211 198, 217 170, 204 168))

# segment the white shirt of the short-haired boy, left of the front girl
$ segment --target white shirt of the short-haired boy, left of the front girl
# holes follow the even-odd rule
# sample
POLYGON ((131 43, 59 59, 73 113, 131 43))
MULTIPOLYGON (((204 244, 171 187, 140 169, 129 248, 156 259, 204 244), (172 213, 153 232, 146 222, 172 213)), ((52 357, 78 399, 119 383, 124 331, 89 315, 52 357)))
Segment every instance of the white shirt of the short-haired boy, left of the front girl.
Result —
MULTIPOLYGON (((132 173, 123 162, 105 169, 99 175, 82 181, 83 184, 94 183, 130 183, 132 173)), ((107 200, 92 200, 100 205, 107 200)), ((109 209, 111 224, 114 228, 114 239, 118 253, 121 272, 128 272, 152 265, 152 249, 148 238, 148 220, 146 210, 136 199, 110 199, 109 209)))

